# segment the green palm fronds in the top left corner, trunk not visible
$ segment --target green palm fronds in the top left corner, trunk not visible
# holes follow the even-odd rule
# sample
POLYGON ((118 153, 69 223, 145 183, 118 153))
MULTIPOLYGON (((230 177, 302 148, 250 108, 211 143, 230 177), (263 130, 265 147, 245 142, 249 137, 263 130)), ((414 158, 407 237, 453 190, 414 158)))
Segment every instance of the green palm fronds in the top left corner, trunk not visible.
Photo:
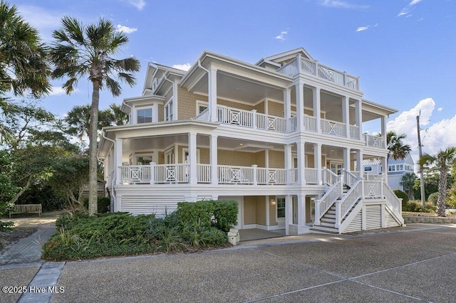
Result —
MULTIPOLYGON (((51 68, 38 31, 19 15, 16 5, 0 1, 0 95, 13 90, 34 97, 51 91, 51 68)), ((4 102, 4 98, 0 102, 4 102)))

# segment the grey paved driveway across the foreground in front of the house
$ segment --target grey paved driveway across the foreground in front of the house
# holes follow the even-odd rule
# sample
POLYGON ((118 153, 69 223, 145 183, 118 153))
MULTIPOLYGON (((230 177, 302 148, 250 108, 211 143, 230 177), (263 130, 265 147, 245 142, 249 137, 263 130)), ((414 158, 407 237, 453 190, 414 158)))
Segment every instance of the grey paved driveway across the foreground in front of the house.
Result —
MULTIPOLYGON (((456 302, 455 264, 456 225, 410 224, 66 262, 51 302, 456 302)), ((8 274, 15 270, 31 275, 8 274)))

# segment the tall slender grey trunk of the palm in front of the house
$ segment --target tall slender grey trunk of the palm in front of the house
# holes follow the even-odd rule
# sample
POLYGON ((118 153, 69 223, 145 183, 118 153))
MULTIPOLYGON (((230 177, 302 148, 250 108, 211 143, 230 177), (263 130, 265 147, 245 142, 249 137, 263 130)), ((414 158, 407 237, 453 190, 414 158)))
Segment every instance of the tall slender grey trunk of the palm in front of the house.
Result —
POLYGON ((100 101, 100 82, 92 80, 92 105, 90 106, 90 135, 88 147, 88 214, 93 216, 98 210, 98 158, 97 158, 97 129, 98 102, 100 101))

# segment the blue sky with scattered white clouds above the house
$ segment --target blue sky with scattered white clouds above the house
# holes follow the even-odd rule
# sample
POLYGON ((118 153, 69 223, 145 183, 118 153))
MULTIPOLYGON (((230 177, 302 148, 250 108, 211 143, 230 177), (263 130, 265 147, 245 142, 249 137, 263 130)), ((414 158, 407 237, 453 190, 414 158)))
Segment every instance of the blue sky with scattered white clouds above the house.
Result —
MULTIPOLYGON (((102 93, 100 108, 142 90, 147 62, 193 64, 204 49, 256 63, 260 58, 304 47, 316 60, 361 76, 364 97, 398 110, 388 129, 408 135, 416 159, 416 115, 421 111, 423 151, 456 145, 456 0, 152 1, 16 0, 22 16, 43 40, 62 16, 83 23, 109 18, 128 33, 120 55, 134 55, 142 69, 138 85, 113 98, 102 93)), ((84 81, 71 96, 55 81, 48 110, 64 115, 90 102, 84 81)), ((366 126, 367 132, 378 127, 366 126)))

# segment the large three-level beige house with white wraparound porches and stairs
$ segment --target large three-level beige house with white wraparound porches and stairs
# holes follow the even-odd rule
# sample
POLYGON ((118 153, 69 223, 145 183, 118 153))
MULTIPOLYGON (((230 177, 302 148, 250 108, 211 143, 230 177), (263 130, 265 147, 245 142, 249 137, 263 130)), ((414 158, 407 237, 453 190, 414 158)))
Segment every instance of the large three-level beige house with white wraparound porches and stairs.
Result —
POLYGON ((130 123, 99 145, 113 211, 162 216, 180 201, 234 200, 237 228, 287 235, 403 225, 385 180, 355 161, 386 165, 385 119, 360 80, 304 48, 256 64, 205 50, 190 70, 147 66, 142 95, 123 101, 130 123), (363 122, 381 124, 381 137, 363 122))

